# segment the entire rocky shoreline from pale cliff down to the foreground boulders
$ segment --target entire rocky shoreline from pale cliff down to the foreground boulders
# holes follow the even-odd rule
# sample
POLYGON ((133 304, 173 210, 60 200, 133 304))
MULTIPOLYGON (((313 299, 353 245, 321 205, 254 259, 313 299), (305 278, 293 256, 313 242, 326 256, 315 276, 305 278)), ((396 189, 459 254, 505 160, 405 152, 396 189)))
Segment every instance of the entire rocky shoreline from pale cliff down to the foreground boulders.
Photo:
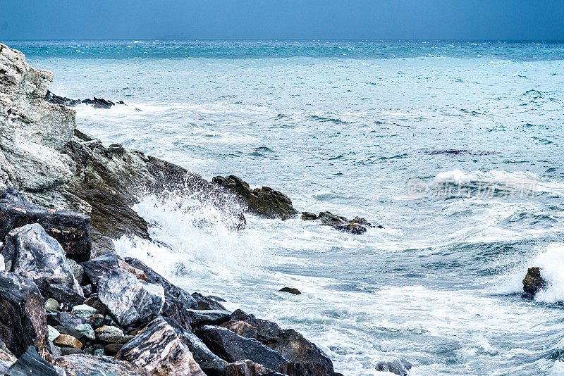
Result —
MULTIPOLYGON (((47 90, 52 78, 3 47, 0 371, 341 375, 295 330, 227 311, 218 297, 189 294, 114 249, 113 239, 123 235, 150 239, 147 223, 131 209, 145 194, 197 194, 221 210, 233 229, 245 226, 244 211, 267 218, 298 215, 288 196, 269 187, 250 189, 234 176, 208 182, 119 144, 103 146, 76 129, 68 107, 89 102, 54 96, 47 90), (233 201, 240 204, 226 204, 233 201)), ((99 108, 113 105, 93 101, 99 108)), ((324 220, 330 214, 320 213, 321 224, 351 234, 370 226, 362 218, 324 220)))

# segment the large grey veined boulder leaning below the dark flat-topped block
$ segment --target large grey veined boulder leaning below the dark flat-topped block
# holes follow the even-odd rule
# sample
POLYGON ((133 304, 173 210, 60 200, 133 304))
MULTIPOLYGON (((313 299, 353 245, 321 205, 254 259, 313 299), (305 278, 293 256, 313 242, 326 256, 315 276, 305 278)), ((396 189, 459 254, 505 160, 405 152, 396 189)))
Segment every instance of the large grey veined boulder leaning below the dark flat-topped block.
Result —
POLYGON ((2 249, 11 271, 33 280, 45 299, 82 303, 84 296, 61 245, 38 225, 9 232, 2 249))

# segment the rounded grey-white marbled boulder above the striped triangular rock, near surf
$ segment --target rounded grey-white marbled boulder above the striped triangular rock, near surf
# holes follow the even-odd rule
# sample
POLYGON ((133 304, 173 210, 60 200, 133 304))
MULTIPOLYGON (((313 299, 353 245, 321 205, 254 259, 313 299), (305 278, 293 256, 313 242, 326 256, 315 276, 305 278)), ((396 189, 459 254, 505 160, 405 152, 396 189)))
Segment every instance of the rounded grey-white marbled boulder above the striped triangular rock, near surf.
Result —
POLYGON ((147 322, 164 306, 164 288, 160 284, 137 280, 121 269, 111 270, 99 279, 98 297, 123 327, 147 322))

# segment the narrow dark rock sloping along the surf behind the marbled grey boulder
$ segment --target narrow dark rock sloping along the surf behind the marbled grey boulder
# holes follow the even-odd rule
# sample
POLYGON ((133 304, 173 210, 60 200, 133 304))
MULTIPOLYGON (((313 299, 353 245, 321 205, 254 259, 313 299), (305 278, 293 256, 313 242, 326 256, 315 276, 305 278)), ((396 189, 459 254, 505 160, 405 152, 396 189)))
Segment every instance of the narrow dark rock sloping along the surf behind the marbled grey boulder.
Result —
POLYGON ((198 303, 194 297, 185 290, 180 289, 180 287, 176 287, 174 284, 171 284, 171 282, 168 282, 166 278, 137 260, 137 258, 126 257, 125 261, 133 266, 133 268, 143 270, 147 276, 147 282, 160 284, 164 288, 165 303, 163 315, 173 318, 189 329, 190 316, 185 311, 197 308, 198 303))

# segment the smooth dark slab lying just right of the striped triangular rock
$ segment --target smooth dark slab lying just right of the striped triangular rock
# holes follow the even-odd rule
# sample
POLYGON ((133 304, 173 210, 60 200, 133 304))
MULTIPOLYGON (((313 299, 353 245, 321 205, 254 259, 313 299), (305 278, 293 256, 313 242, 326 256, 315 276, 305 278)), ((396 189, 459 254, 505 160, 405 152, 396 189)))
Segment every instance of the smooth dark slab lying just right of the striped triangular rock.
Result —
POLYGON ((256 339, 240 336, 224 327, 208 325, 197 330, 196 334, 213 353, 229 363, 249 359, 276 370, 278 366, 287 361, 279 353, 264 346, 256 339))

